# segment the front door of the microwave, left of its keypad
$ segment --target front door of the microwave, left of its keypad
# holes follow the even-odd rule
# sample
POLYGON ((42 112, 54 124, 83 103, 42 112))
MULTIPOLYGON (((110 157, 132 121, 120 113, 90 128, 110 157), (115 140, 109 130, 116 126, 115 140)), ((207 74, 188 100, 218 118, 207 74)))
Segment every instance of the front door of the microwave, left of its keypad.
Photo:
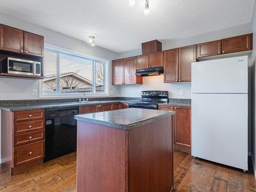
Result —
POLYGON ((8 73, 34 75, 34 62, 24 59, 8 58, 8 73))

